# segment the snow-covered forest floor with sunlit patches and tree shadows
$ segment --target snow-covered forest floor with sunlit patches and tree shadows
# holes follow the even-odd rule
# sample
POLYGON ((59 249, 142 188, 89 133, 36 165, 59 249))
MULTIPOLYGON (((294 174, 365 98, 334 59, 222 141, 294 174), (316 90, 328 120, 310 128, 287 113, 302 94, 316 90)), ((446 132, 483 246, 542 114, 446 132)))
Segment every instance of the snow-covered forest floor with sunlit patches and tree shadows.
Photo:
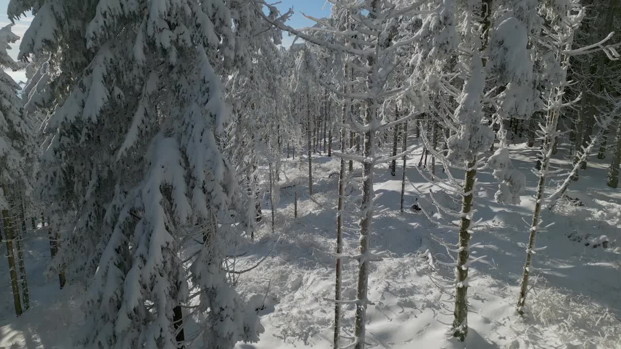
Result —
MULTIPOLYGON (((456 342, 447 333, 453 310, 453 271, 442 263, 451 263, 453 253, 435 239, 456 243, 456 233, 438 228, 421 212, 409 209, 418 197, 420 206, 434 213, 419 193, 434 189, 415 168, 419 155, 410 156, 406 168, 409 181, 403 214, 399 212, 401 160, 395 177, 386 164, 376 169, 374 189, 376 196, 381 196, 376 199, 371 246, 385 257, 372 263, 369 274, 373 304, 368 306, 368 348, 621 348, 621 189, 605 185, 609 159, 592 156, 579 181, 571 183, 568 196, 578 198, 584 206, 561 199, 554 211, 543 211, 543 225, 555 224, 538 233, 537 247, 547 248, 535 255, 533 288, 528 294, 527 315, 522 318, 514 306, 528 238, 525 222, 530 222, 534 206, 536 177, 531 168, 536 153, 524 143, 513 146, 511 153, 514 166, 527 176, 520 205, 494 202, 496 180, 490 171, 478 175, 474 220, 481 220, 481 229, 473 233, 471 243, 480 245, 471 253, 474 257, 485 255, 486 263, 471 267, 471 312, 465 343, 456 342), (608 248, 594 242, 601 235, 610 241, 608 248)), ((569 166, 569 161, 562 160, 563 153, 561 147, 556 156, 560 160, 553 161, 556 168, 569 166)), ((238 287, 243 294, 265 295, 260 310, 265 333, 260 342, 238 343, 237 349, 332 348, 334 304, 329 299, 334 297, 332 253, 339 160, 314 155, 312 200, 306 158, 302 161, 283 160, 284 188, 277 200, 275 230, 271 232, 265 196, 260 229, 237 260, 238 268, 263 260, 240 276, 238 287), (299 183, 297 219, 292 183, 299 183)), ((437 165, 436 171, 443 176, 442 165, 437 165)), ((360 168, 355 166, 348 177, 353 184, 360 177, 360 168)), ((350 185, 346 193, 351 197, 346 211, 353 212, 359 190, 350 185)), ((458 202, 441 190, 437 197, 446 206, 458 207, 458 202)), ((357 219, 347 217, 344 252, 353 254, 358 245, 353 229, 357 219)), ((75 325, 82 321, 80 292, 70 287, 58 290, 57 279, 43 276, 50 256, 47 236, 40 229, 26 237, 25 247, 31 308, 19 319, 14 317, 5 261, 0 267, 0 279, 5 280, 0 288, 0 349, 71 348, 75 325)), ((343 299, 355 298, 356 277, 357 261, 347 261, 343 299)), ((346 305, 343 309, 344 347, 352 334, 354 308, 346 305)))

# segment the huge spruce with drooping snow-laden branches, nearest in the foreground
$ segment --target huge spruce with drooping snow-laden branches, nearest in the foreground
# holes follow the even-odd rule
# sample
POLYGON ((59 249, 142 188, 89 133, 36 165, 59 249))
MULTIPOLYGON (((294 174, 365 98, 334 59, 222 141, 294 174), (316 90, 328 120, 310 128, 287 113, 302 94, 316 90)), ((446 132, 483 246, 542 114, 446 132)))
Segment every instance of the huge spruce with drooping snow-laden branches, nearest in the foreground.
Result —
POLYGON ((42 79, 55 106, 43 130, 42 196, 73 226, 62 263, 88 266, 80 345, 177 348, 189 316, 179 305, 195 296, 206 324, 188 340, 257 340, 256 312, 222 268, 249 224, 217 134, 230 110, 221 79, 248 66, 273 30, 237 0, 9 6, 12 19, 27 11, 35 18, 20 57, 49 57, 42 79), (204 243, 186 268, 188 231, 204 243))

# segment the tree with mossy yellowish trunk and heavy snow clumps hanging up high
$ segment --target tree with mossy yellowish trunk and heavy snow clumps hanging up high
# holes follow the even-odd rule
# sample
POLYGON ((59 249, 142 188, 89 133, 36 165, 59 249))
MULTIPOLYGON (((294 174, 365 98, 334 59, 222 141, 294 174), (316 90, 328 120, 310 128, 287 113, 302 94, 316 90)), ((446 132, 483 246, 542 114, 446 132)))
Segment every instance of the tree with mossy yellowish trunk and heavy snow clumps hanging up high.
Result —
POLYGON ((445 151, 437 150, 435 132, 432 135, 422 132, 421 139, 433 158, 443 164, 446 179, 435 176, 433 166, 429 177, 427 174, 424 176, 428 181, 440 183, 445 191, 461 197, 461 207, 456 211, 443 206, 433 193, 429 195, 429 201, 438 207, 438 212, 448 216, 445 220, 458 219, 455 226, 440 221, 438 224, 458 231, 458 243, 451 248, 457 253, 455 263, 450 264, 455 266, 456 274, 451 333, 463 341, 468 333, 468 271, 474 263, 469 256, 469 248, 471 233, 476 229, 471 225, 476 174, 485 166, 493 168, 494 176, 500 181, 497 201, 519 203, 525 178, 524 174, 511 168, 502 125, 509 119, 528 119, 536 107, 533 55, 528 47, 537 40, 541 23, 535 1, 509 0, 495 4, 487 1, 456 4, 445 1, 435 11, 436 20, 423 22, 418 32, 419 49, 412 60, 415 71, 412 84, 422 85, 422 103, 433 106, 431 116, 434 122, 442 130, 448 130, 440 132, 445 138, 445 151), (459 36, 455 32, 456 23, 460 23, 459 36), (460 50, 456 52, 459 64, 454 65, 444 57, 450 57, 458 39, 461 42, 460 50), (443 45, 429 44, 438 40, 442 40, 443 45), (446 70, 452 66, 458 68, 458 79, 455 81, 461 79, 461 87, 459 83, 451 86, 448 80, 440 77, 442 74, 451 76, 446 70), (417 73, 420 71, 425 71, 425 74, 417 73), (456 93, 458 88, 461 89, 459 94, 456 93), (450 102, 451 96, 456 97, 454 104, 450 102), (429 101, 425 102, 427 99, 429 101), (495 137, 488 126, 492 124, 499 126, 501 147, 486 163, 483 153, 495 137), (465 171, 463 181, 455 179, 451 168, 465 171))

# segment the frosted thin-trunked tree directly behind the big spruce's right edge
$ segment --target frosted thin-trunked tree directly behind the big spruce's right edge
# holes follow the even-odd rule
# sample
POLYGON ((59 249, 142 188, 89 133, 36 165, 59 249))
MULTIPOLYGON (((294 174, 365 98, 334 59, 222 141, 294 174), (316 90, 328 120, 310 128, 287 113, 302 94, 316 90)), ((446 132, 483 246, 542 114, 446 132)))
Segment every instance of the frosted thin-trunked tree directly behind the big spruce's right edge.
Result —
MULTIPOLYGON (((261 193, 265 193, 267 188, 276 188, 270 183, 265 186, 260 183, 259 166, 266 164, 259 160, 270 159, 268 162, 271 162, 276 174, 271 182, 278 179, 281 165, 281 150, 278 148, 281 132, 285 130, 283 119, 288 101, 279 97, 285 93, 284 78, 279 69, 281 61, 281 52, 276 45, 263 42, 254 55, 252 68, 235 71, 225 85, 227 101, 233 106, 233 117, 221 143, 225 155, 242 175, 242 186, 246 187, 251 199, 248 212, 254 212, 251 220, 256 222, 262 220, 261 193)), ((272 197, 278 194, 278 191, 271 192, 272 197)))

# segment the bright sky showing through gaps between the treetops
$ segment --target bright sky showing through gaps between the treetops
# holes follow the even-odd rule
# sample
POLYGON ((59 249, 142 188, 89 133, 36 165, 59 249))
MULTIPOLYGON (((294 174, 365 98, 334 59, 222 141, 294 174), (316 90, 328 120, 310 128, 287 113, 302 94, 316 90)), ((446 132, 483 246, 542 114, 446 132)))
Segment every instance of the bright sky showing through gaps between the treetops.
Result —
MULTIPOLYGON (((278 7, 281 12, 286 12, 290 7, 293 8, 295 13, 291 16, 289 25, 294 28, 301 28, 314 24, 312 20, 304 18, 304 16, 302 16, 302 12, 313 17, 327 17, 330 15, 330 5, 326 4, 325 0, 267 0, 267 2, 270 3, 276 1, 280 1, 279 4, 276 4, 276 7, 278 7)), ((4 27, 10 23, 9 17, 6 15, 8 5, 9 0, 0 0, 0 27, 4 27)), ((31 20, 32 16, 25 19, 22 18, 22 20, 16 22, 16 24, 12 27, 12 31, 19 37, 23 37, 24 32, 30 25, 31 20)), ((291 45, 293 39, 293 37, 289 37, 287 34, 284 34, 283 45, 291 45)), ((20 42, 18 41, 12 45, 11 50, 9 50, 9 55, 11 55, 14 59, 17 58, 17 53, 19 53, 19 43, 20 42)), ((7 71, 7 73, 9 73, 9 75, 11 75, 16 81, 25 81, 26 79, 24 71, 7 71)))

